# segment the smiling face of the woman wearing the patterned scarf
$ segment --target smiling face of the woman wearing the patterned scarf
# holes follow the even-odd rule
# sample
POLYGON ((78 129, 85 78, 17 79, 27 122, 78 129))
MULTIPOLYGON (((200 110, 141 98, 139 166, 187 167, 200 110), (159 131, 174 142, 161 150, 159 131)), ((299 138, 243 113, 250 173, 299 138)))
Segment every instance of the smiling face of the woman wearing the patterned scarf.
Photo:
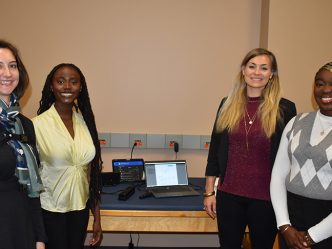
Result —
POLYGON ((19 82, 19 71, 13 53, 7 48, 0 48, 0 98, 7 104, 10 95, 19 82))

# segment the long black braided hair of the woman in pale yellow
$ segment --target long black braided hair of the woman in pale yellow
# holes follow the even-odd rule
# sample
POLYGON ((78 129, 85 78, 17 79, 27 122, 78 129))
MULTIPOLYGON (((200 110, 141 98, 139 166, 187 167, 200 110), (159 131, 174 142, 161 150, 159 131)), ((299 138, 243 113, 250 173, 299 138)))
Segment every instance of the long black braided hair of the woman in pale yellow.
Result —
POLYGON ((37 114, 40 115, 43 112, 47 111, 55 102, 55 96, 51 91, 51 84, 55 72, 63 67, 73 68, 79 73, 81 78, 82 90, 79 96, 77 97, 77 104, 75 103, 74 106, 76 112, 80 112, 82 114, 96 149, 96 155, 90 163, 90 185, 89 185, 90 205, 91 208, 94 208, 96 204, 100 201, 100 192, 102 188, 101 169, 103 161, 101 159, 101 149, 98 139, 98 132, 96 128, 94 114, 91 108, 87 84, 82 71, 77 66, 71 63, 61 63, 52 69, 52 71, 48 74, 46 78, 45 85, 42 91, 42 98, 39 101, 39 109, 37 111, 37 114))

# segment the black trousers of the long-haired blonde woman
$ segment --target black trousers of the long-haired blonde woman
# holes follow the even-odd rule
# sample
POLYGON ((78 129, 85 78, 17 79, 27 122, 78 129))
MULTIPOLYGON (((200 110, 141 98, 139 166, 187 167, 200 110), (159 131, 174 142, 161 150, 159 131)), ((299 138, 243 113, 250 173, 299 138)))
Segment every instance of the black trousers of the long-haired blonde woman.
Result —
POLYGON ((277 224, 270 201, 218 191, 217 221, 222 249, 240 249, 246 226, 252 249, 273 248, 277 224))

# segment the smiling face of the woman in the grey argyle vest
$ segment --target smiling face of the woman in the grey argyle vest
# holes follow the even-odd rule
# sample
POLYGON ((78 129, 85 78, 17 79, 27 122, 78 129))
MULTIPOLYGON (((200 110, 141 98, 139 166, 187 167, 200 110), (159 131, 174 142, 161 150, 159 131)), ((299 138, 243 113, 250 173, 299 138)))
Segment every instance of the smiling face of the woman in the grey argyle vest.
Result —
POLYGON ((320 112, 332 116, 332 72, 320 70, 315 77, 314 96, 320 112))

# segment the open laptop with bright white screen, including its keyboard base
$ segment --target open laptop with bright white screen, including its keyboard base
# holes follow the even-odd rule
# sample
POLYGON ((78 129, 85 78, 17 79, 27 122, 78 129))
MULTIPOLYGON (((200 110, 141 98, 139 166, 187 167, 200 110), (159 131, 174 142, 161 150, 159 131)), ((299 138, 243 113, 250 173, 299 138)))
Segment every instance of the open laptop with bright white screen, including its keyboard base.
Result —
POLYGON ((200 195, 188 185, 185 160, 145 161, 147 190, 156 198, 200 195))

